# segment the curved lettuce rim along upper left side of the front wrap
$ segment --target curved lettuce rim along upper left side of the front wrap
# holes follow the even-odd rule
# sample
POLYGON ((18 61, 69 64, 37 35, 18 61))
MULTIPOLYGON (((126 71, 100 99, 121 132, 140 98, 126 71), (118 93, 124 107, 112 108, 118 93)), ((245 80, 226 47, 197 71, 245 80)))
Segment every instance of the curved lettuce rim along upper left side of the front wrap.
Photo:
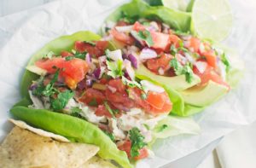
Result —
MULTIPOLYGON (((100 39, 101 36, 89 31, 75 32, 72 35, 55 38, 54 40, 44 45, 44 47, 38 50, 34 55, 32 55, 32 58, 30 59, 30 61, 28 61, 27 67, 32 66, 35 61, 38 61, 44 55, 47 55, 50 51, 54 52, 56 55, 60 54, 62 50, 71 51, 71 49, 73 49, 75 41, 96 41, 100 39)), ((26 97, 27 99, 29 99, 27 91, 28 87, 32 84, 32 80, 38 78, 39 76, 33 72, 30 72, 28 70, 24 72, 20 83, 20 94, 22 97, 26 97)))

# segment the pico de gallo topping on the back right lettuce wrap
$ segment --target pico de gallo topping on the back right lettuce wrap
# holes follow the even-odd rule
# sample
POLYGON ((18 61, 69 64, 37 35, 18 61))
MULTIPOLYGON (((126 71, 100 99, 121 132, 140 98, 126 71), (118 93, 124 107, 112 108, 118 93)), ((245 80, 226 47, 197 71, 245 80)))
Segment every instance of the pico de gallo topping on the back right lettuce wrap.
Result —
POLYGON ((165 23, 154 20, 107 22, 105 39, 113 41, 133 62, 143 64, 157 75, 185 75, 191 83, 194 75, 201 78, 200 86, 209 80, 230 87, 226 72, 230 62, 220 49, 189 33, 177 32, 165 23))

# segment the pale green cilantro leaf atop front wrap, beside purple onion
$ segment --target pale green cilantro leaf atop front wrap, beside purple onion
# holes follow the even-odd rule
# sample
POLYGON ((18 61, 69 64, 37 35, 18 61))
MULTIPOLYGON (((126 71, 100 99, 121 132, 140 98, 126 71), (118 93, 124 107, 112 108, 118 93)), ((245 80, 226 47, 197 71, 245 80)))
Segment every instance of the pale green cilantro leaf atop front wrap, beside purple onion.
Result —
POLYGON ((123 75, 122 67, 123 67, 123 61, 106 61, 107 67, 108 67, 108 75, 112 78, 117 78, 119 76, 123 75))

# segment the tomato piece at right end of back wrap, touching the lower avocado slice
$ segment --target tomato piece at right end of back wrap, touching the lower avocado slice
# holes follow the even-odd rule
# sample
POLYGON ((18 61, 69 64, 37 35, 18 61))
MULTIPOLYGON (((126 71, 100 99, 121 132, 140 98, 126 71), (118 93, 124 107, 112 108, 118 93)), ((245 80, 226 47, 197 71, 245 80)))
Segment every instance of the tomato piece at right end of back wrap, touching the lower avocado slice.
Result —
POLYGON ((209 80, 212 80, 217 84, 223 84, 224 86, 230 88, 230 85, 224 82, 224 80, 218 75, 218 73, 215 72, 213 68, 208 65, 206 70, 202 73, 196 67, 193 67, 193 72, 201 78, 201 85, 207 84, 209 80))

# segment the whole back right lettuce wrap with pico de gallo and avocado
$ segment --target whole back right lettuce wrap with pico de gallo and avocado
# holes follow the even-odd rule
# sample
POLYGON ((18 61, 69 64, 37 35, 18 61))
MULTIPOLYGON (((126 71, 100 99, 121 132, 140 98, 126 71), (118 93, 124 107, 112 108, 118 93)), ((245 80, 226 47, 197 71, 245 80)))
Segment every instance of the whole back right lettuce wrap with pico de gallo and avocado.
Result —
POLYGON ((199 113, 226 95, 242 69, 232 65, 234 58, 224 49, 190 33, 190 19, 189 13, 134 0, 102 26, 105 39, 122 50, 137 78, 166 89, 175 105, 172 114, 179 116, 199 113))

